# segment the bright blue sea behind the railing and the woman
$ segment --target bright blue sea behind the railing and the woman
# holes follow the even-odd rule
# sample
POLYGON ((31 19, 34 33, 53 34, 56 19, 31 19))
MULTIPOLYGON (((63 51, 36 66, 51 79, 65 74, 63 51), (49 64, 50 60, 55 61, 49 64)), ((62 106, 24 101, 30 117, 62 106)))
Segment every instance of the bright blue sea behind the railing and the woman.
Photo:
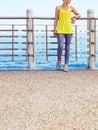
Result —
MULTIPOLYGON (((1 32, 0 32, 1 35, 1 32)), ((2 35, 5 35, 2 33, 2 35)), ((6 36, 9 35, 6 34, 6 36)), ((10 34, 11 35, 11 34, 10 34)), ((26 33, 16 33, 18 37, 14 38, 14 44, 6 44, 5 42, 12 42, 12 38, 0 37, 0 70, 29 70, 27 62, 27 44, 26 33), (7 48, 4 50, 4 48, 7 48), (14 52, 11 50, 14 48, 14 52), (14 53, 14 57, 10 56, 14 53)), ((48 34, 48 44, 46 44, 45 32, 36 32, 34 38, 34 61, 35 70, 56 70, 57 63, 57 42, 56 38, 53 38, 53 33, 48 34), (48 47, 48 49, 47 49, 48 47), (54 49, 52 49, 54 48, 54 49), (47 56, 48 55, 48 56, 47 56)), ((97 41, 97 40, 96 40, 97 41)), ((98 41, 97 41, 98 42, 98 41)), ((75 34, 72 38, 72 44, 70 48, 70 70, 81 70, 88 68, 88 42, 87 32, 78 33, 77 44, 75 44, 75 34)), ((62 69, 64 64, 64 51, 62 56, 62 69)), ((96 45, 96 68, 98 67, 98 45, 96 45)))

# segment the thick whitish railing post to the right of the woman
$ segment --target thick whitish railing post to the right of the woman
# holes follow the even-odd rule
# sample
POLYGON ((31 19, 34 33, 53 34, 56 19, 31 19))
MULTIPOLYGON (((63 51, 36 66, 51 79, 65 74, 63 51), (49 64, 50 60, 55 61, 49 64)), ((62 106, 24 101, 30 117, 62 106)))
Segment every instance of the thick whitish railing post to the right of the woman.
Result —
POLYGON ((88 42, 89 42, 89 58, 88 58, 88 68, 95 69, 95 20, 94 20, 94 10, 87 10, 87 30, 88 30, 88 42))

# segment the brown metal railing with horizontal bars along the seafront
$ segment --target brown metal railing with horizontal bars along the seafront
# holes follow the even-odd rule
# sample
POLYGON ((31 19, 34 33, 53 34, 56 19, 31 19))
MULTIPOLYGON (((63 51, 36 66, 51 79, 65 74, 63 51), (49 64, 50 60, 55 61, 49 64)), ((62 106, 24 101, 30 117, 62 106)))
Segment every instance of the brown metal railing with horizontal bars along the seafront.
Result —
MULTIPOLYGON (((34 64, 56 63, 57 39, 53 35, 54 18, 31 18, 31 29, 28 20, 28 17, 0 17, 0 62, 29 62, 30 56, 34 64), (28 50, 30 48, 33 49, 30 50, 32 54, 28 50)), ((90 55, 94 57, 95 63, 98 63, 97 20, 98 18, 80 18, 73 25, 70 64, 82 62, 88 65, 90 55), (94 29, 90 28, 91 25, 87 28, 88 20, 94 20, 94 29), (94 45, 93 54, 90 53, 90 43, 94 45)))

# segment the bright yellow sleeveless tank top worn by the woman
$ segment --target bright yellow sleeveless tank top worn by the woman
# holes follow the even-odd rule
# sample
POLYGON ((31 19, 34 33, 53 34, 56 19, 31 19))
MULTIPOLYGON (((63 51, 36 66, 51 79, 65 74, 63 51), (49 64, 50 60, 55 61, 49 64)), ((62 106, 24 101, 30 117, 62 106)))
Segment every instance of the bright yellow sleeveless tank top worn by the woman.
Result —
POLYGON ((57 24, 57 33, 61 34, 72 34, 72 23, 71 23, 72 13, 70 7, 67 10, 60 6, 58 24, 57 24))

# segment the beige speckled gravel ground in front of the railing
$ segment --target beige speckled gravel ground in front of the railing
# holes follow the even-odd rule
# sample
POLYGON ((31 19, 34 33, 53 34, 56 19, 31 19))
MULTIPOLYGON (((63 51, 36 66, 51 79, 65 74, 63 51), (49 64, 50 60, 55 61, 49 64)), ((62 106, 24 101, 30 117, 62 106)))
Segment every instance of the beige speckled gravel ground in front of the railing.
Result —
POLYGON ((0 130, 98 130, 98 71, 1 71, 0 130))

